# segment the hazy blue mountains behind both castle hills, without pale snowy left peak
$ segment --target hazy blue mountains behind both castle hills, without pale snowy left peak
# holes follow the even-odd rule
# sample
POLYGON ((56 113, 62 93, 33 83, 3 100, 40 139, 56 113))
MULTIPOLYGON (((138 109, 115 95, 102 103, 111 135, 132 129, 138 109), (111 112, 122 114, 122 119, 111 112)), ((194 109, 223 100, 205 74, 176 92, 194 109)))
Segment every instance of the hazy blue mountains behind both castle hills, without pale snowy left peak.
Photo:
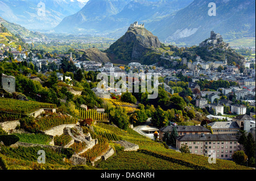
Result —
POLYGON ((208 15, 210 2, 90 0, 54 30, 119 38, 131 23, 138 21, 166 43, 199 44, 212 30, 221 33, 226 41, 255 37, 255 1, 216 0, 216 16, 208 15))

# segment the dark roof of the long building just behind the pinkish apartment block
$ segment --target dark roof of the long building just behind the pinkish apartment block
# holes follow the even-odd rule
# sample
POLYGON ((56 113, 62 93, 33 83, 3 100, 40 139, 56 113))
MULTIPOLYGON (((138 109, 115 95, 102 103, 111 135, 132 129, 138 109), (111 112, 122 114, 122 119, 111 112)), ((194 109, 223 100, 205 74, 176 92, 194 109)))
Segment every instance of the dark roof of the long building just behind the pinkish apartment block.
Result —
MULTIPOLYGON (((171 132, 175 126, 167 126, 161 128, 159 131, 171 132)), ((210 132, 209 129, 202 126, 176 126, 177 132, 210 132)))

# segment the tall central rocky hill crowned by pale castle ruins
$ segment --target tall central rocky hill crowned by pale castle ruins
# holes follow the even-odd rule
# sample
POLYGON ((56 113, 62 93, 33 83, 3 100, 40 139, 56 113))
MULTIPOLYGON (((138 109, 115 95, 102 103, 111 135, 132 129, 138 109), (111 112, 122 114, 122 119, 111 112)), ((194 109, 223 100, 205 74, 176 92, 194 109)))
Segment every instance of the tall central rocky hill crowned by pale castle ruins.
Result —
POLYGON ((161 47, 158 37, 143 27, 138 22, 131 24, 125 35, 115 41, 106 52, 114 54, 115 59, 124 61, 142 61, 146 54, 158 52, 161 47))

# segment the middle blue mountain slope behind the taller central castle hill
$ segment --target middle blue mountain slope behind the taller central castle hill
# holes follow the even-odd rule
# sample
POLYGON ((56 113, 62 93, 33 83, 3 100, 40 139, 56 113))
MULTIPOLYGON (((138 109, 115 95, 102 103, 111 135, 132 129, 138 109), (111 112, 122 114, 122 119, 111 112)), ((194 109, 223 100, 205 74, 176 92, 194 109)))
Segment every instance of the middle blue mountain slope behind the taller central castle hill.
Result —
POLYGON ((120 37, 135 21, 148 23, 180 10, 193 0, 90 0, 74 15, 64 18, 56 32, 107 33, 120 37))

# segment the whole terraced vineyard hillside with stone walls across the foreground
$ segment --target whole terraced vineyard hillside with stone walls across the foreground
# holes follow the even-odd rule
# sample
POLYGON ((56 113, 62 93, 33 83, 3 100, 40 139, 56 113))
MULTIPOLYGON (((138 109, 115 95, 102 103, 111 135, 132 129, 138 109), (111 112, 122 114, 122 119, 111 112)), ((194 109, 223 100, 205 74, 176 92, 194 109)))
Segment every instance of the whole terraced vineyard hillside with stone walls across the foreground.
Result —
POLYGON ((36 118, 23 117, 13 122, 12 127, 20 126, 12 130, 7 124, 2 124, 5 122, 1 119, 0 123, 0 139, 5 144, 0 145, 0 169, 3 170, 250 169, 222 159, 217 159, 216 164, 209 164, 208 157, 166 149, 162 142, 152 141, 131 128, 125 131, 108 123, 83 121, 65 115, 61 110, 57 113, 44 112, 36 118), (73 126, 67 128, 67 125, 73 126), (97 144, 95 140, 98 140, 97 144), (35 153, 38 150, 46 152, 46 164, 37 162, 35 153), (102 155, 105 161, 98 159, 102 155))

